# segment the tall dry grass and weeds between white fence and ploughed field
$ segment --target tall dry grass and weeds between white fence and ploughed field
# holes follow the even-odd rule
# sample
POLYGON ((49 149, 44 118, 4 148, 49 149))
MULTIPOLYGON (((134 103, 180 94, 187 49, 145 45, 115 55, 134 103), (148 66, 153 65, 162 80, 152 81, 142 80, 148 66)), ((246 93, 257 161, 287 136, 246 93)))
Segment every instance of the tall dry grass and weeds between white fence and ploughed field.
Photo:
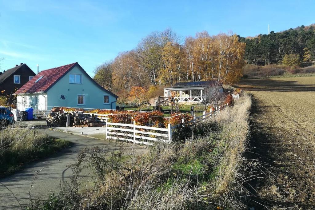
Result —
MULTIPOLYGON (((156 144, 143 156, 122 161, 118 152, 102 156, 98 149, 79 155, 96 174, 95 187, 75 187, 52 196, 45 205, 70 209, 243 209, 243 152, 249 133, 250 97, 199 124, 184 143, 156 144), (75 196, 77 195, 77 196, 75 196), (67 200, 68 199, 68 200, 67 200), (70 205, 71 204, 71 205, 70 205)), ((74 171, 80 171, 72 167, 74 171)), ((78 179, 72 179, 78 180, 78 179)), ((32 209, 43 209, 34 206, 32 209)))

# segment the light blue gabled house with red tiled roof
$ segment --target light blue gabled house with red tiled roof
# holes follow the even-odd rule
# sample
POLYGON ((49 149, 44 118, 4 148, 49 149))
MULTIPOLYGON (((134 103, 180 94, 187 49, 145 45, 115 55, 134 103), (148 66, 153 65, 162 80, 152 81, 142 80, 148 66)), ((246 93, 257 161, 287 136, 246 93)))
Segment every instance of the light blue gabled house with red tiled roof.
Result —
POLYGON ((116 109, 118 96, 97 84, 76 62, 39 72, 15 92, 17 109, 116 109))

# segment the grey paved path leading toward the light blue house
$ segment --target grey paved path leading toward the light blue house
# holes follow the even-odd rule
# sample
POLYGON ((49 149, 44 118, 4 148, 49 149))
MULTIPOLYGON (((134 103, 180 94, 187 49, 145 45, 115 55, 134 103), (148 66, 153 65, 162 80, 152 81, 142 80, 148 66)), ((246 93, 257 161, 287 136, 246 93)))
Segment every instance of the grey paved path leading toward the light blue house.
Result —
MULTIPOLYGON (((119 148, 119 143, 115 141, 98 140, 84 136, 78 136, 69 133, 58 131, 43 130, 48 132, 50 136, 63 138, 71 141, 71 147, 66 148, 59 153, 56 153, 42 161, 30 163, 25 169, 19 173, 15 173, 0 182, 5 184, 17 197, 21 205, 26 205, 28 201, 28 191, 36 173, 44 168, 36 177, 33 187, 31 188, 31 198, 41 197, 47 198, 53 192, 59 190, 59 183, 64 184, 72 175, 67 164, 73 163, 77 159, 77 153, 82 148, 90 148, 92 146, 106 147, 106 152, 111 152, 119 148)), ((124 144, 125 154, 132 154, 135 151, 137 154, 144 153, 146 147, 139 145, 124 144), (134 147, 132 149, 132 147, 134 147)), ((86 180, 90 179, 90 171, 84 172, 86 180)), ((0 210, 2 209, 19 209, 19 204, 14 196, 3 185, 0 184, 0 210)))

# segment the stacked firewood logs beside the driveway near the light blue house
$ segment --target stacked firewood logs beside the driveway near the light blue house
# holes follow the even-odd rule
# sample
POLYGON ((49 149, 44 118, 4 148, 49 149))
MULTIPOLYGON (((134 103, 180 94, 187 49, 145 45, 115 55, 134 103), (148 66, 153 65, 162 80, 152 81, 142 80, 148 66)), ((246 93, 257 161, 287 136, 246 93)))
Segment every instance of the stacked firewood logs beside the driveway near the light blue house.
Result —
POLYGON ((94 115, 83 114, 80 111, 60 113, 52 111, 47 117, 47 125, 54 127, 64 127, 67 123, 67 115, 70 115, 70 126, 87 125, 89 127, 98 126, 94 115))

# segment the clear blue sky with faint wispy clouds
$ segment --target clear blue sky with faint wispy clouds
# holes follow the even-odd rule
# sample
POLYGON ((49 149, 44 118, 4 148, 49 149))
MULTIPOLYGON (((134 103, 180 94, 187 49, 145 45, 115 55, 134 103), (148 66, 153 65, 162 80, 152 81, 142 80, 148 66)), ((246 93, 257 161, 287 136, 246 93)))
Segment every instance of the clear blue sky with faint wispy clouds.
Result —
POLYGON ((255 36, 315 23, 315 1, 14 1, 0 0, 2 70, 26 63, 36 72, 78 62, 97 65, 131 50, 152 31, 183 39, 208 31, 255 36))

